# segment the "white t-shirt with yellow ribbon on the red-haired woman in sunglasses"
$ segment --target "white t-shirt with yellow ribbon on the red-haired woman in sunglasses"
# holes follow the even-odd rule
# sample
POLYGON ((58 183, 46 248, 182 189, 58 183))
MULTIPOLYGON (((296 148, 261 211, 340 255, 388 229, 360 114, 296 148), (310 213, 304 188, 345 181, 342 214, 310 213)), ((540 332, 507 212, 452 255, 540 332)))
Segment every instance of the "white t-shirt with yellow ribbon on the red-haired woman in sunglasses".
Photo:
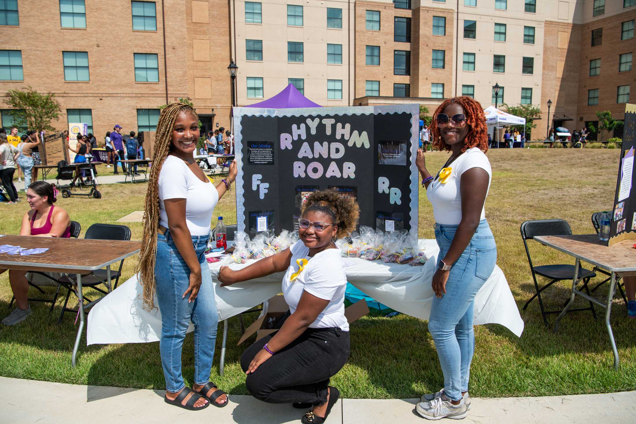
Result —
MULTIPOLYGON (((445 183, 434 179, 426 189, 426 196, 433 205, 433 217, 438 224, 458 225, 462 221, 462 193, 459 189, 462 174, 471 168, 483 168, 488 172, 488 190, 492 180, 492 170, 487 156, 478 148, 471 147, 450 164, 452 168, 445 183)), ((488 196, 488 191, 486 192, 488 196)), ((481 218, 486 212, 481 208, 481 218)))

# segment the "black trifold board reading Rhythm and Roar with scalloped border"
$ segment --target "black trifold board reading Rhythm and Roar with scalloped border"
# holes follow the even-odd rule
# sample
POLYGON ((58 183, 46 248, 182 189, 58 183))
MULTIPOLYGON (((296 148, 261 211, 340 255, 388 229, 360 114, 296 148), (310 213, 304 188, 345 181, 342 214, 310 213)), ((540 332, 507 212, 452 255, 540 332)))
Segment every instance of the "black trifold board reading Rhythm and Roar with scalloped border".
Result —
POLYGON ((237 223, 298 229, 312 191, 356 198, 360 225, 417 234, 419 107, 236 107, 237 223))

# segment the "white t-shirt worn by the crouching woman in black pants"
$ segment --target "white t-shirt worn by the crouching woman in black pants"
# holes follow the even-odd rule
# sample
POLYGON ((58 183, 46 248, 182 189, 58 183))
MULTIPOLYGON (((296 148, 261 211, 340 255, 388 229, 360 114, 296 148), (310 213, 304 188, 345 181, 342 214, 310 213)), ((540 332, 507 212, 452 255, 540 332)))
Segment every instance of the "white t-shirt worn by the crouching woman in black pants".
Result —
POLYGON ((306 291, 315 297, 329 300, 324 311, 309 325, 310 328, 340 327, 342 331, 349 331, 344 303, 347 275, 340 249, 322 250, 314 257, 309 257, 309 248, 302 240, 298 240, 289 250, 291 261, 282 280, 282 294, 289 305, 289 311, 296 311, 300 296, 306 291), (298 271, 296 259, 302 258, 308 260, 307 265, 294 281, 290 281, 291 275, 298 271))

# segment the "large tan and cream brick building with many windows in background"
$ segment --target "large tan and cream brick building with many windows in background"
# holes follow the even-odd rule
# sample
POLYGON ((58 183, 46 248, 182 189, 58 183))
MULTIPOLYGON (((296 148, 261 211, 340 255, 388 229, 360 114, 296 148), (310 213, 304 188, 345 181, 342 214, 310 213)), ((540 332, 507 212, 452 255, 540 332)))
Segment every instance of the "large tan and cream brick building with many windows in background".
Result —
POLYGON ((115 124, 154 129, 159 106, 179 97, 205 130, 228 128, 235 60, 237 106, 289 83, 322 106, 432 112, 469 95, 541 107, 541 139, 548 100, 550 121, 570 130, 599 110, 622 116, 635 19, 636 0, 4 0, 0 93, 55 93, 55 127, 88 122, 98 139, 115 124))

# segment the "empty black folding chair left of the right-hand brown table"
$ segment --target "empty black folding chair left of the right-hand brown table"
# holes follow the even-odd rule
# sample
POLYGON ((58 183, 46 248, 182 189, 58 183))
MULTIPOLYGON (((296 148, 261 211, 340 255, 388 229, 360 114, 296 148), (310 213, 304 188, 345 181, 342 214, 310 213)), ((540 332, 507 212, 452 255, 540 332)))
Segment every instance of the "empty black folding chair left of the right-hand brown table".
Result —
MULTIPOLYGON (((530 264, 530 271, 532 272, 532 280, 534 280, 534 288, 536 289, 536 294, 534 294, 528 301, 523 305, 523 310, 526 310, 530 302, 537 297, 539 299, 539 307, 541 308, 541 315, 543 315, 543 322, 548 325, 548 318, 546 315, 550 313, 561 313, 562 310, 558 311, 546 311, 543 306, 543 299, 541 299, 541 292, 555 284, 558 281, 562 280, 572 280, 574 277, 574 265, 569 264, 554 264, 554 265, 541 265, 534 266, 532 264, 532 259, 530 258, 530 250, 528 249, 528 243, 526 240, 532 240, 535 236, 562 236, 562 235, 571 235, 572 229, 570 229, 570 224, 563 219, 541 219, 539 221, 525 221, 521 224, 521 237, 523 240, 523 245, 525 247, 525 253, 528 256, 528 263, 530 264), (537 275, 540 275, 544 278, 549 278, 551 281, 539 288, 539 284, 537 283, 537 275)), ((578 280, 576 284, 579 284, 579 281, 583 280, 583 289, 587 292, 588 296, 590 295, 590 290, 588 289, 588 283, 591 278, 596 277, 596 273, 593 271, 586 270, 584 268, 579 268, 578 272, 578 280)), ((568 299, 569 300, 569 299, 568 299)), ((563 304, 563 308, 565 308, 565 304, 563 304)), ((568 312, 576 312, 576 311, 591 311, 592 316, 596 319, 596 311, 594 310, 594 304, 590 301, 589 308, 579 308, 579 309, 570 309, 568 312)))

